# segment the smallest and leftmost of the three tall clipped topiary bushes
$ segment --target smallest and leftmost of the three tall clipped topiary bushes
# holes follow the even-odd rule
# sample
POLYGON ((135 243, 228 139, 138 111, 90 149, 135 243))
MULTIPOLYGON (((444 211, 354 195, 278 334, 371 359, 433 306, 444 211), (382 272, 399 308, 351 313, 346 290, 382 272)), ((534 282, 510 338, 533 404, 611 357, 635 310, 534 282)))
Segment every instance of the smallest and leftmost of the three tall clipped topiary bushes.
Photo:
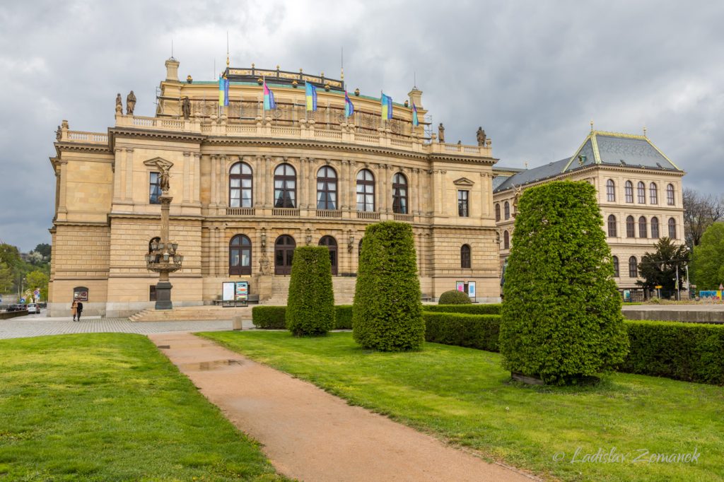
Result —
POLYGON ((334 329, 332 263, 324 246, 302 246, 294 250, 287 329, 296 337, 323 335, 334 329))

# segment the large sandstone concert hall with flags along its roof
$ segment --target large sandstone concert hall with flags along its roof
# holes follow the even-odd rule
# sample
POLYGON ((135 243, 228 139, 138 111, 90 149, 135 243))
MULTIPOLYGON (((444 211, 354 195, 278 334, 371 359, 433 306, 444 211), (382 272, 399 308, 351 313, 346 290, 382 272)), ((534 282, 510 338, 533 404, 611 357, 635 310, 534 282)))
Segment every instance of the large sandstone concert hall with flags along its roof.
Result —
POLYGON ((345 117, 342 80, 227 67, 230 102, 219 107, 218 82, 181 81, 178 67, 166 62, 155 117, 117 104, 107 132, 59 128, 51 316, 67 313, 74 292, 87 293, 89 314, 153 306, 158 274, 145 256, 160 229, 159 163, 169 166, 170 238, 184 256, 174 305, 213 303, 222 282, 240 280, 262 303, 283 303, 298 245, 329 248, 335 294, 349 301, 364 229, 385 220, 412 225, 424 295, 462 281, 475 282, 477 300, 498 299, 489 140, 426 138, 413 127, 413 103, 426 114, 416 88, 384 121, 379 98, 350 93, 355 114, 345 117), (263 79, 277 109, 264 110, 263 79), (305 109, 306 82, 316 111, 305 109))

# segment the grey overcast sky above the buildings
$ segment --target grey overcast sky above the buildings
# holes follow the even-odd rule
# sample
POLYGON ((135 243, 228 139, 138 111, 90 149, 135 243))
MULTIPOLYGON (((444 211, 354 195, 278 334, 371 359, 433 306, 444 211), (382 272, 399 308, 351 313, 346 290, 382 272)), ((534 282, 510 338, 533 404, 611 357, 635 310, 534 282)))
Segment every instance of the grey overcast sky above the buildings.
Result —
POLYGON ((0 240, 50 242, 54 131, 106 132, 134 90, 153 115, 164 61, 212 80, 232 67, 325 72, 404 100, 416 76, 448 142, 481 125, 500 164, 570 156, 589 131, 641 133, 724 191, 724 2, 4 1, 0 6, 0 240))

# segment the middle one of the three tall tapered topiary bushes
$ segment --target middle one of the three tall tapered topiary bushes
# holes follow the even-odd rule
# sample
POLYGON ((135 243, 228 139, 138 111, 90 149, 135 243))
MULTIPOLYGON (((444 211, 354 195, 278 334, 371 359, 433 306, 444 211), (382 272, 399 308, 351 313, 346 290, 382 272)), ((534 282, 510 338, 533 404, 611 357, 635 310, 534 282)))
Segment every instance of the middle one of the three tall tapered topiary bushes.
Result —
POLYGON ((425 341, 412 227, 385 221, 364 234, 353 305, 353 336, 363 348, 418 350, 425 341))

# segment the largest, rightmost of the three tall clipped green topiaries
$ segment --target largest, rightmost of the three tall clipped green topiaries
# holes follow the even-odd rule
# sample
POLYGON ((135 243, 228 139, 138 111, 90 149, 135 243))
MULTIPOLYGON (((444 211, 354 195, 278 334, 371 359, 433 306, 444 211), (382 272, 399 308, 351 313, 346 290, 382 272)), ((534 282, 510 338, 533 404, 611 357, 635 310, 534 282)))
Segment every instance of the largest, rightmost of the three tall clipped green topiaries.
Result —
POLYGON ((559 181, 518 203, 500 353, 513 373, 576 383, 623 361, 628 338, 596 190, 559 181))

